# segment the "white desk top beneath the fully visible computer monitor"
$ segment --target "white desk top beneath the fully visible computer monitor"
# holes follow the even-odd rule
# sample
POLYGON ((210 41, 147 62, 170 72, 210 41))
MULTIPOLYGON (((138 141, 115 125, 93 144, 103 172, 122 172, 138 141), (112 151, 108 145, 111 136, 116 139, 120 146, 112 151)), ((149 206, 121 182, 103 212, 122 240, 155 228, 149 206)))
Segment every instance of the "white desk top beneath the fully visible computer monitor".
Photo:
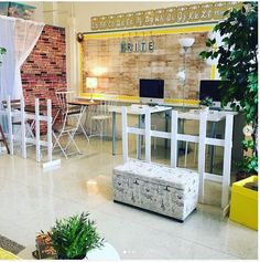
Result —
MULTIPOLYGON (((131 105, 131 106, 126 106, 127 107, 127 113, 131 115, 144 115, 145 112, 149 109, 149 112, 152 113, 160 113, 160 112, 165 112, 165 111, 172 111, 172 107, 170 106, 148 106, 148 105, 131 105)), ((108 108, 109 112, 115 112, 115 113, 121 113, 122 106, 110 106, 108 108)))

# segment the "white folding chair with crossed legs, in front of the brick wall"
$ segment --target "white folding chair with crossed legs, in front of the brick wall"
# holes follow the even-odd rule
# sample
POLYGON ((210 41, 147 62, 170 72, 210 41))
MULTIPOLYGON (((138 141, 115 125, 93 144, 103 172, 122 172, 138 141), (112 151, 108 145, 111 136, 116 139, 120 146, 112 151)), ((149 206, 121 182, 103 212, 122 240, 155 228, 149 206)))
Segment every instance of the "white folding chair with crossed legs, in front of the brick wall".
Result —
POLYGON ((67 159, 69 155, 80 154, 74 137, 78 127, 80 126, 82 115, 84 114, 85 107, 68 106, 66 103, 66 95, 67 92, 56 92, 56 97, 61 106, 62 118, 61 120, 57 119, 53 126, 53 136, 55 138, 53 150, 58 146, 67 159), (63 137, 67 137, 65 143, 62 142, 63 137), (74 145, 75 150, 68 153, 68 146, 71 144, 74 145))

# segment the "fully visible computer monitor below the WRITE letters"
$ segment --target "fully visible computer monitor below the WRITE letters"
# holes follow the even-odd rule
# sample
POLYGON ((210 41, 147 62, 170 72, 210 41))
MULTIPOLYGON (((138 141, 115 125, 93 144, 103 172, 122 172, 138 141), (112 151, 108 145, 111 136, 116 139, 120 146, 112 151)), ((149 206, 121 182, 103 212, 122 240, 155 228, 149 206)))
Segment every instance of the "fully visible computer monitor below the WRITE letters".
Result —
POLYGON ((164 102, 164 80, 139 81, 139 96, 143 104, 163 104, 164 102))

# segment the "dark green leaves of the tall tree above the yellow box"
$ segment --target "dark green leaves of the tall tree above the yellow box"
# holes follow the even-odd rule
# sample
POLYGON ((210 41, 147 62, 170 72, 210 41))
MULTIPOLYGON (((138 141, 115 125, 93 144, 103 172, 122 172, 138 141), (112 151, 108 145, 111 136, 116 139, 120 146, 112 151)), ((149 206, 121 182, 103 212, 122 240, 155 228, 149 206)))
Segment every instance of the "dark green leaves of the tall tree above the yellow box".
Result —
POLYGON ((246 123, 251 125, 251 140, 243 140, 245 155, 238 166, 249 175, 258 172, 258 2, 245 2, 240 9, 228 10, 225 20, 213 31, 223 36, 217 45, 216 38, 208 39, 208 50, 201 52, 203 59, 218 59, 217 69, 225 84, 221 88, 221 105, 242 109, 246 123), (237 101, 240 102, 238 105, 237 101), (249 156, 250 155, 250 156, 249 156))

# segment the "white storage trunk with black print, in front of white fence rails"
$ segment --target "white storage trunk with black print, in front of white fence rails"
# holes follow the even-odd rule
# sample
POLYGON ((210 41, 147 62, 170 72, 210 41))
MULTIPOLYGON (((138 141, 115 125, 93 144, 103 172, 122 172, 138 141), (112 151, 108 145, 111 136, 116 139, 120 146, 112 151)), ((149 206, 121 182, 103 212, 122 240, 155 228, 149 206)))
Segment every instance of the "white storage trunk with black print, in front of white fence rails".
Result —
POLYGON ((198 174, 183 168, 129 160, 113 168, 113 200, 184 219, 198 201, 198 174))

